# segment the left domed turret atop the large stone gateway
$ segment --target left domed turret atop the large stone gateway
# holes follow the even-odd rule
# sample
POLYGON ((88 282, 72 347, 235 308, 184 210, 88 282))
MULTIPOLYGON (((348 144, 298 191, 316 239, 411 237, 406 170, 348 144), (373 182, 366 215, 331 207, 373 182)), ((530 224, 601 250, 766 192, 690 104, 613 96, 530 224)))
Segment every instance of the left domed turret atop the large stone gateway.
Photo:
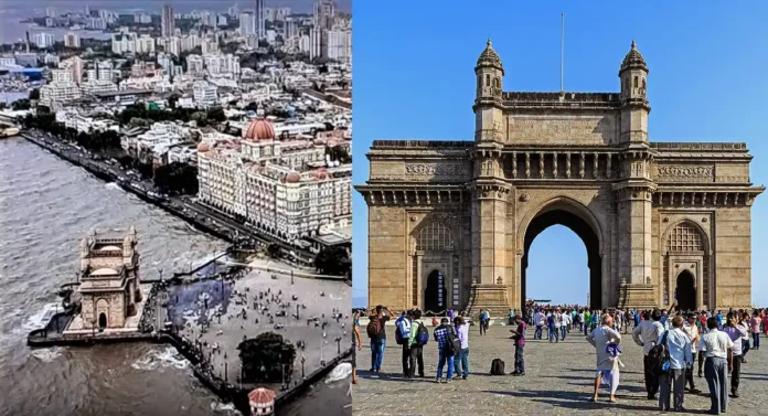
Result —
POLYGON ((493 51, 491 40, 488 40, 486 49, 478 57, 474 66, 477 77, 477 90, 474 97, 474 140, 476 141, 502 141, 503 109, 502 109, 502 79, 504 67, 499 54, 493 51))

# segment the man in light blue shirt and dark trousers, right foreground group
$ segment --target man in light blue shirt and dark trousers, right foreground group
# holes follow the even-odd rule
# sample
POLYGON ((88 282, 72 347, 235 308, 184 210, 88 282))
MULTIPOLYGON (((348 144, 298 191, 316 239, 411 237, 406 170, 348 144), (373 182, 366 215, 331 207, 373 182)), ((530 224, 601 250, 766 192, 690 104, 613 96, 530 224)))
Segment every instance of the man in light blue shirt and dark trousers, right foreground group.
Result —
POLYGON ((657 366, 659 374, 659 408, 661 412, 670 410, 670 393, 674 391, 674 410, 685 412, 683 399, 685 398, 685 372, 693 366, 691 352, 691 338, 683 331, 683 317, 671 319, 672 329, 664 331, 657 343, 662 350, 661 366, 657 366))

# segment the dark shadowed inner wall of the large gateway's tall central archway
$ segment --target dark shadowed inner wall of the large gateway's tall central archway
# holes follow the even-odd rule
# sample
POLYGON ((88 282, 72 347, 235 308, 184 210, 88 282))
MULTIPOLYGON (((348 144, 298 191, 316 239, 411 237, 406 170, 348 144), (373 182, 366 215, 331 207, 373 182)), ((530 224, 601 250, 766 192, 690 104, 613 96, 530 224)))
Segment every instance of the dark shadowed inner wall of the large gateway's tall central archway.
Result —
MULTIPOLYGON (((565 210, 551 210, 537 215, 531 221, 531 223, 527 226, 527 230, 525 231, 525 250, 523 253, 521 264, 521 309, 525 310, 525 301, 527 299, 526 275, 529 266, 529 255, 531 253, 531 245, 533 241, 544 230, 547 230, 553 225, 563 225, 569 228, 582 239, 582 242, 584 242, 585 248, 587 250, 587 267, 589 268, 589 282, 588 285, 585 285, 583 295, 579 295, 583 296, 584 300, 578 301, 578 303, 584 305, 587 301, 588 295, 588 307, 591 309, 602 309, 602 262, 600 258, 599 238, 589 223, 587 223, 580 216, 565 210)), ((557 253, 551 253, 550 258, 552 258, 553 262, 556 262, 557 253)), ((567 268, 561 270, 559 276, 556 276, 552 280, 553 291, 556 290, 555 284, 557 281, 561 281, 562 279, 574 278, 572 274, 573 270, 567 268)))

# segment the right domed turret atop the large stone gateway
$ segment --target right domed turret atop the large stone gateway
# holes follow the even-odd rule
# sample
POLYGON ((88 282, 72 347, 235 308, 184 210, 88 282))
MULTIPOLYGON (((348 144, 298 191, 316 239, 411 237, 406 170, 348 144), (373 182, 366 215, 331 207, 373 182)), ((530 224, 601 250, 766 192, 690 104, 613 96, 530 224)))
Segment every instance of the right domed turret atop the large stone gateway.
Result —
POLYGON ((634 41, 627 52, 621 68, 621 143, 648 142, 648 114, 651 107, 648 104, 648 65, 638 51, 634 41))

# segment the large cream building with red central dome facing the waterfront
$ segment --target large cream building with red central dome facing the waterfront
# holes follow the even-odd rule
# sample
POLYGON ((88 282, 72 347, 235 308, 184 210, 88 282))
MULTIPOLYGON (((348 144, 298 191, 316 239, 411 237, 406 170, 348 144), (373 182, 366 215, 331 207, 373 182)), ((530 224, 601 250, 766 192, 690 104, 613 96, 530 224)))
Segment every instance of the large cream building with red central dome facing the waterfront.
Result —
POLYGON ((246 218, 260 233, 289 244, 351 218, 351 164, 326 161, 327 146, 350 142, 279 141, 265 120, 245 139, 198 147, 201 202, 246 218))

